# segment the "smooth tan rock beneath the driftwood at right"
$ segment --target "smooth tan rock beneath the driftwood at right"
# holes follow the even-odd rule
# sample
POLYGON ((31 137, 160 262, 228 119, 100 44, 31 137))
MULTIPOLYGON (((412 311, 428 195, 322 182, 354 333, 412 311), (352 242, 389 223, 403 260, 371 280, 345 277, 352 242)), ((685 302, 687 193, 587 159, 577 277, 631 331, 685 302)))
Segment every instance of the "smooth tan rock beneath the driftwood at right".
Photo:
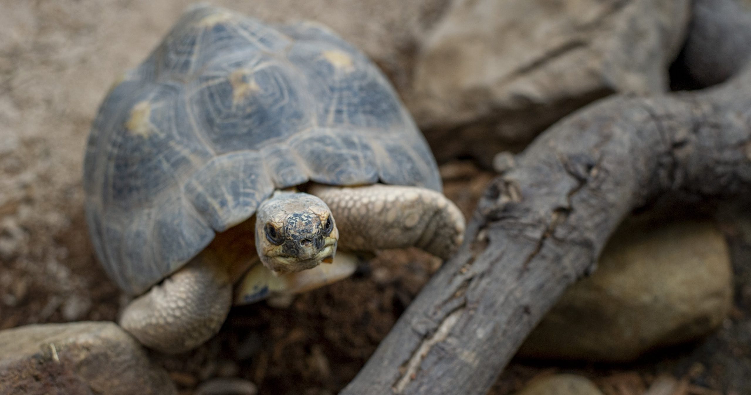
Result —
POLYGON ((563 294, 522 357, 628 362, 704 336, 732 305, 725 238, 709 221, 623 225, 593 276, 563 294))

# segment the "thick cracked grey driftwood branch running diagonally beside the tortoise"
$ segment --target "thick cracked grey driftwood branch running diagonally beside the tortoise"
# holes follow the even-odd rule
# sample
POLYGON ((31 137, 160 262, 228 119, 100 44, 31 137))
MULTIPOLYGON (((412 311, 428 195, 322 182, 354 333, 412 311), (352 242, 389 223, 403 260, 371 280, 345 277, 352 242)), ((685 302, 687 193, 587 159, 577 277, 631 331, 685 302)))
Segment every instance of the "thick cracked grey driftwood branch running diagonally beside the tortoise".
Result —
POLYGON ((704 91, 605 99, 511 162, 343 395, 486 393, 629 212, 751 196, 751 68, 704 91))

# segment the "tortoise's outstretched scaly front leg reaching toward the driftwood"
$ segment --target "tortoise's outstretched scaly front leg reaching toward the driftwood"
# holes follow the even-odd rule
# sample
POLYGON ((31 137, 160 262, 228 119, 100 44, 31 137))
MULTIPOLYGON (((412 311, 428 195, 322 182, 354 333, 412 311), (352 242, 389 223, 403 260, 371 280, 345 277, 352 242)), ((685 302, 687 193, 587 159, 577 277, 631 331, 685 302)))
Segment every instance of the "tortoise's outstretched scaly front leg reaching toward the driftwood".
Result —
POLYGON ((403 185, 334 187, 309 191, 324 201, 339 228, 339 249, 374 251, 419 247, 448 259, 462 243, 464 216, 443 194, 403 185))

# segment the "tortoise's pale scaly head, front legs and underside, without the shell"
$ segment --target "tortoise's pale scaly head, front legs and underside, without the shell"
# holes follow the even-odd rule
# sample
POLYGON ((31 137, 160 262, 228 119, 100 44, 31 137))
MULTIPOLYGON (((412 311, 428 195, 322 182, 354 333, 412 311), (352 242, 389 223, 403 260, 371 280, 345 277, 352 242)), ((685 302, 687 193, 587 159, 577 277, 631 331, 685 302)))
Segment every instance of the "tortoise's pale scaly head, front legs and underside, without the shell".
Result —
MULTIPOLYGON (((309 192, 320 201, 310 194, 278 192, 261 204, 256 214, 255 244, 264 264, 246 274, 234 303, 251 303, 269 294, 309 291, 351 275, 357 266, 353 255, 336 257, 333 265, 319 266, 320 261, 309 264, 311 258, 333 255, 339 235, 339 249, 345 251, 416 246, 442 259, 448 259, 462 243, 464 217, 437 191, 376 184, 313 185, 309 192), (329 234, 321 231, 327 216, 336 219, 329 234), (289 218, 295 220, 287 222, 289 218), (264 233, 268 225, 288 238, 282 243, 269 243, 264 233), (311 241, 306 243, 306 239, 311 241), (318 246, 313 248, 316 242, 318 246), (300 271, 306 267, 312 269, 300 271), (276 275, 272 274, 275 270, 276 275), (287 274, 279 276, 279 272, 287 274)), ((231 273, 250 260, 244 253, 224 251, 237 245, 239 236, 233 234, 222 243, 220 235, 218 243, 131 302, 120 325, 143 345, 167 353, 188 351, 216 334, 233 303, 231 283, 237 274, 231 273)), ((240 244, 243 250, 249 248, 249 243, 240 244)))

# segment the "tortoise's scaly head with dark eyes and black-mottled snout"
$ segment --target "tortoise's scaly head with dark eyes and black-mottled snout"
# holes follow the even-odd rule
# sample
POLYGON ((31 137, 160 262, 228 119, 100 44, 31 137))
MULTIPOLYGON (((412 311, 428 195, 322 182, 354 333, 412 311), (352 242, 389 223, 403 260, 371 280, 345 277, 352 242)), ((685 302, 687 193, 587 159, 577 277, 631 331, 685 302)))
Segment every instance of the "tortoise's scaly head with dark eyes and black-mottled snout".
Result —
POLYGON ((255 248, 276 274, 331 263, 337 240, 331 210, 312 194, 276 191, 255 214, 255 248))

